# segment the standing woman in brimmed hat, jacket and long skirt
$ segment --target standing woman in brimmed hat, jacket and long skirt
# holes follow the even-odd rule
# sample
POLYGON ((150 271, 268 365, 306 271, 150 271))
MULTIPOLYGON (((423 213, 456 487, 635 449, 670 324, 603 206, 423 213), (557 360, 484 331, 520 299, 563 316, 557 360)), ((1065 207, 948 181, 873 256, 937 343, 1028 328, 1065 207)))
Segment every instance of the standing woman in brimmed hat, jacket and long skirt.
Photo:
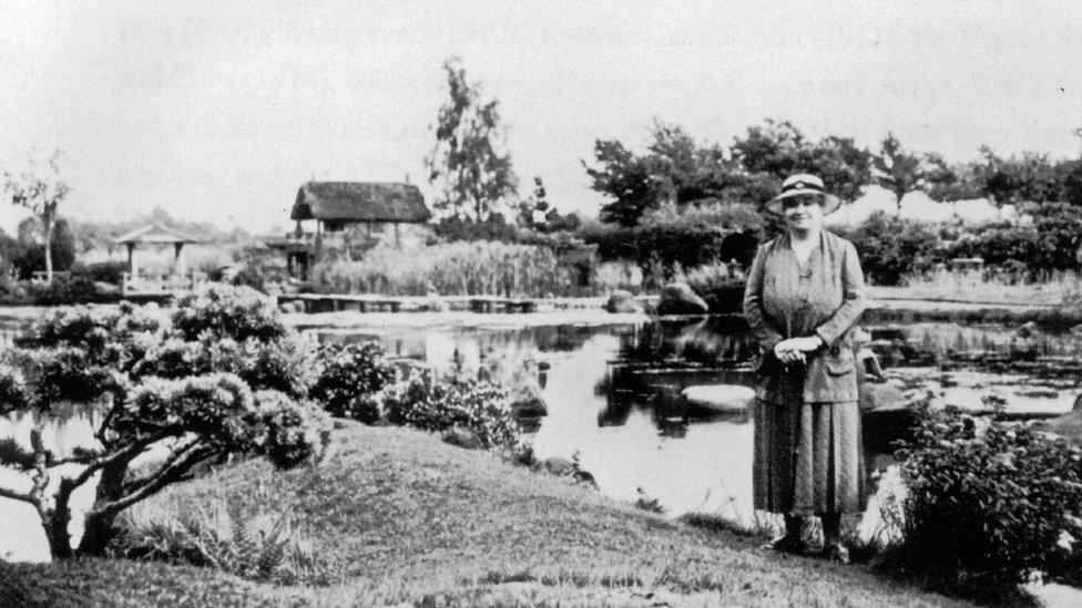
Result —
POLYGON ((823 229, 840 202, 794 175, 767 207, 785 233, 759 247, 744 313, 763 350, 755 403, 755 508, 785 516, 770 547, 802 553, 804 518, 823 521, 824 555, 848 561, 841 514, 864 506, 860 411, 850 330, 864 311, 853 244, 823 229))

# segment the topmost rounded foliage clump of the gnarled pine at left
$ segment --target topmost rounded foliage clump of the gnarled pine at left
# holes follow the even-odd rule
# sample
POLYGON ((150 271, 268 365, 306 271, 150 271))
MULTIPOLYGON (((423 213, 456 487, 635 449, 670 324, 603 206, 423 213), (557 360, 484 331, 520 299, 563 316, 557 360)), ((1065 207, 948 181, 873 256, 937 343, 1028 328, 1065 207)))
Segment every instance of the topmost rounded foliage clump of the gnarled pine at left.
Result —
POLYGON ((181 297, 173 312, 173 330, 185 340, 207 333, 243 342, 272 341, 286 336, 286 327, 268 298, 251 287, 211 285, 181 297))

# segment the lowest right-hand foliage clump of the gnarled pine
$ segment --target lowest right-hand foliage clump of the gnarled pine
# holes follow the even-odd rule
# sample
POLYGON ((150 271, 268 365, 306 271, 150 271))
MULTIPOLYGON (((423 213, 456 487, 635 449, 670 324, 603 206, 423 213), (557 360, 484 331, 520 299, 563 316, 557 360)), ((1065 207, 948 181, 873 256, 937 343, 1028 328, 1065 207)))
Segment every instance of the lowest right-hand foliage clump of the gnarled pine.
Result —
POLYGON ((289 468, 319 460, 330 443, 327 414, 278 391, 258 391, 255 402, 257 420, 266 426, 263 451, 272 463, 289 468))

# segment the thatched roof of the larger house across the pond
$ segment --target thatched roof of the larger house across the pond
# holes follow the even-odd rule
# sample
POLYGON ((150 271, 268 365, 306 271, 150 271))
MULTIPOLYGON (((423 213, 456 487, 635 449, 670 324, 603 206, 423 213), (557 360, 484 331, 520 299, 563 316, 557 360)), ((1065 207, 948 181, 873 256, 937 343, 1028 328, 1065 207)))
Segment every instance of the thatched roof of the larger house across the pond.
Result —
POLYGON ((421 190, 411 184, 376 182, 306 182, 297 193, 289 219, 401 221, 421 224, 432 217, 421 190))

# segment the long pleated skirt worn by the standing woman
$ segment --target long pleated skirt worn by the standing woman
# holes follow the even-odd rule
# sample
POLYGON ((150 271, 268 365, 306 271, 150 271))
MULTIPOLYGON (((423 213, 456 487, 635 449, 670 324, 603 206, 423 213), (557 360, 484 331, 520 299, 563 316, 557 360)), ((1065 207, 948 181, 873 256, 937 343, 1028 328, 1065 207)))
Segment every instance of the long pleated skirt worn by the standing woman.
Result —
POLYGON ((756 509, 793 515, 864 511, 860 409, 755 401, 756 509))

